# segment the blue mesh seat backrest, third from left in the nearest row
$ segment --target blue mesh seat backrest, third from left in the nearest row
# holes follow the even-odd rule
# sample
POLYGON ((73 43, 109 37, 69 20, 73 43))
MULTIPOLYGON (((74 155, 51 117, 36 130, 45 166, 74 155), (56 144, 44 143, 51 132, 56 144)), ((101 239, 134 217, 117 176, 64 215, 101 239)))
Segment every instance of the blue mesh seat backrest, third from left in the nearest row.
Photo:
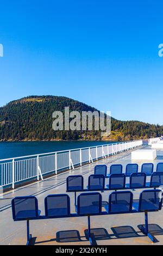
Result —
POLYGON ((102 212, 102 196, 98 192, 82 193, 77 198, 78 215, 98 215, 102 212))

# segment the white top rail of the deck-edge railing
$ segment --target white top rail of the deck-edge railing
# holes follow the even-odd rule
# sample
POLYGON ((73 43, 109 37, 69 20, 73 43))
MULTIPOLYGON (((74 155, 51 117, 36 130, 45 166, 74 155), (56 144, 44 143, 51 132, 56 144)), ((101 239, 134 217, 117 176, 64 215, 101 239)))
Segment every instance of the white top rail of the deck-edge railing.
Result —
POLYGON ((96 145, 92 147, 85 147, 85 148, 76 148, 76 149, 66 149, 66 150, 61 150, 61 151, 54 151, 54 152, 49 152, 49 153, 41 153, 41 154, 35 154, 35 155, 26 155, 26 156, 17 156, 17 157, 10 157, 8 159, 0 159, 0 162, 4 161, 12 161, 12 160, 18 160, 18 159, 28 159, 30 157, 37 157, 37 156, 47 156, 47 155, 52 155, 52 154, 59 154, 59 153, 66 153, 68 151, 76 151, 80 149, 89 149, 89 148, 96 148, 96 147, 102 147, 102 146, 108 146, 108 145, 115 145, 115 144, 123 144, 123 143, 130 143, 130 142, 138 142, 142 141, 142 139, 137 139, 135 141, 124 141, 124 142, 116 142, 116 143, 111 143, 111 144, 103 144, 103 145, 96 145))

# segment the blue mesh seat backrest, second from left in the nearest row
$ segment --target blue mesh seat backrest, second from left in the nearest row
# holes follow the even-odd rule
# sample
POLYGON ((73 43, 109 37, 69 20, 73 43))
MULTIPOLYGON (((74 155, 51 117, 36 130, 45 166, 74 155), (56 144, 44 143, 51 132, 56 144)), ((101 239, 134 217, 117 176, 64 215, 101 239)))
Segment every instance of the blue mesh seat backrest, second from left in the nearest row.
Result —
POLYGON ((63 217, 70 215, 70 197, 67 194, 49 194, 45 198, 46 217, 63 217))

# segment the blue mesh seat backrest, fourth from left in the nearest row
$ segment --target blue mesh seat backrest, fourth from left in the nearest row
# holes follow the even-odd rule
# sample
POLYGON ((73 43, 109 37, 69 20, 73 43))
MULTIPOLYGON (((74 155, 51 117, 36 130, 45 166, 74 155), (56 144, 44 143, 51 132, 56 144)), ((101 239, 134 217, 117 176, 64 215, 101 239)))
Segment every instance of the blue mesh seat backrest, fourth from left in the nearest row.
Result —
POLYGON ((108 212, 118 214, 131 212, 133 206, 133 193, 130 191, 117 191, 109 195, 108 212))

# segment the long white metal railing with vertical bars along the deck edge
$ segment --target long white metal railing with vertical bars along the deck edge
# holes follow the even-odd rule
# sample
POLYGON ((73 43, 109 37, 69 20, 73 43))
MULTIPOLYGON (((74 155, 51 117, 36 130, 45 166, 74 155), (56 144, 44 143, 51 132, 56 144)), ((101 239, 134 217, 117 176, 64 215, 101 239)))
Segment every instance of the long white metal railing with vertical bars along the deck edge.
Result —
POLYGON ((0 188, 15 187, 29 179, 50 173, 58 173, 61 169, 74 169, 83 163, 93 163, 96 160, 116 155, 142 145, 142 141, 129 141, 114 144, 104 144, 89 148, 71 149, 46 154, 14 157, 0 160, 0 188))

